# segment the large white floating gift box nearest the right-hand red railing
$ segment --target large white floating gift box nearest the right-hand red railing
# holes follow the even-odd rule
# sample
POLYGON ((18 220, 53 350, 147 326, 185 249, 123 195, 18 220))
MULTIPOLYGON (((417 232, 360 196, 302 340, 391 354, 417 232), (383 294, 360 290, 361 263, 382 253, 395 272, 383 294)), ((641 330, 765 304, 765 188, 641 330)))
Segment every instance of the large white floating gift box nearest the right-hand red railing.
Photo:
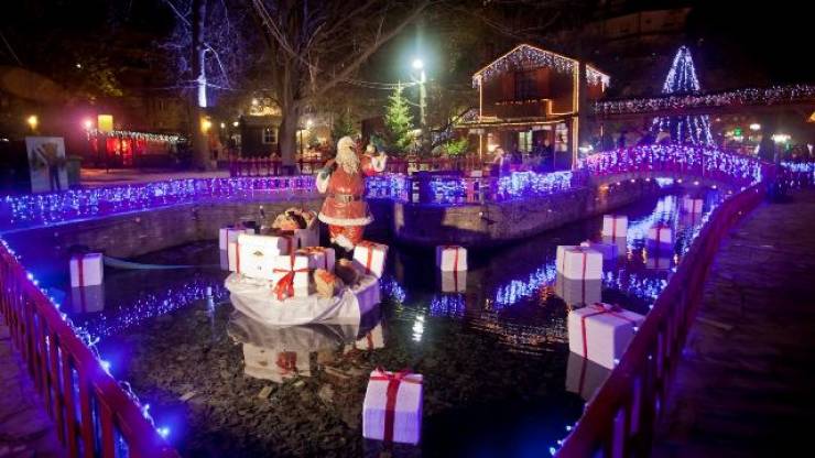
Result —
POLYGON ((568 349, 605 368, 613 369, 644 317, 608 304, 568 313, 568 349), (584 345, 585 342, 585 345, 584 345))

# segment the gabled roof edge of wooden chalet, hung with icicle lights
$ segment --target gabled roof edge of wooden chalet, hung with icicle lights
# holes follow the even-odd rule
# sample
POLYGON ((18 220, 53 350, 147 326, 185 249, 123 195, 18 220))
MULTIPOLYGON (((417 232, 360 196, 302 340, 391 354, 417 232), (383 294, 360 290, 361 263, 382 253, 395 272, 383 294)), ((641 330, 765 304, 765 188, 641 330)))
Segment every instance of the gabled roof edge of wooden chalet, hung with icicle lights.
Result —
MULTIPOLYGON (((522 43, 476 72, 472 75, 472 87, 479 87, 482 81, 486 83, 509 69, 552 67, 556 72, 572 73, 578 64, 578 61, 563 54, 522 43)), ((611 80, 608 75, 588 64, 586 64, 586 79, 588 83, 602 83, 605 86, 608 86, 611 80)))

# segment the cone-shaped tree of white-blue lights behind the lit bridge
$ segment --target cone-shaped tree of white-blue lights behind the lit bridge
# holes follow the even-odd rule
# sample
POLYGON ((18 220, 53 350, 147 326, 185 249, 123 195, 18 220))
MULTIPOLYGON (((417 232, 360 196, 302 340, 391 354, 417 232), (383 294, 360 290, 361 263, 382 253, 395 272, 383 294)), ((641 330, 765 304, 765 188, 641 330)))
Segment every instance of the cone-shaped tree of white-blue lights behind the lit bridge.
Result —
MULTIPOLYGON (((674 56, 665 83, 662 85, 663 95, 696 94, 702 90, 696 77, 696 67, 691 56, 691 50, 682 46, 674 56)), ((652 131, 658 138, 660 132, 667 132, 672 143, 680 144, 713 144, 710 120, 707 115, 671 116, 654 118, 652 131)))

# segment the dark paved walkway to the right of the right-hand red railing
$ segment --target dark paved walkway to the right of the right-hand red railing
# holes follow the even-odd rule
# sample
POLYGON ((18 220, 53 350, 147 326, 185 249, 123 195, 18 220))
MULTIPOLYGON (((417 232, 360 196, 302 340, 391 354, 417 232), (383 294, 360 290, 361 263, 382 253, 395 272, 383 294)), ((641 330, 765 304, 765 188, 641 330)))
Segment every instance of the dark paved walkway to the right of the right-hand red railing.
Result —
POLYGON ((706 284, 655 457, 812 456, 815 192, 762 205, 706 284))

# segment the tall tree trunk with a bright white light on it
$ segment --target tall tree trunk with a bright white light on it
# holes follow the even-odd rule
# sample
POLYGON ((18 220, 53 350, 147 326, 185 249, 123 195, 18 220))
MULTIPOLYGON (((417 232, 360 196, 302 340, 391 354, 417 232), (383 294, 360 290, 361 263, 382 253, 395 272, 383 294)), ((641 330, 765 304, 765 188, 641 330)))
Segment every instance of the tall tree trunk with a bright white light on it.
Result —
POLYGON ((192 97, 189 110, 189 137, 193 148, 193 165, 197 170, 213 170, 206 133, 202 131, 202 119, 206 115, 206 76, 204 74, 204 28, 207 12, 206 0, 193 1, 193 74, 198 87, 192 97), (202 86, 203 92, 202 94, 202 86))

